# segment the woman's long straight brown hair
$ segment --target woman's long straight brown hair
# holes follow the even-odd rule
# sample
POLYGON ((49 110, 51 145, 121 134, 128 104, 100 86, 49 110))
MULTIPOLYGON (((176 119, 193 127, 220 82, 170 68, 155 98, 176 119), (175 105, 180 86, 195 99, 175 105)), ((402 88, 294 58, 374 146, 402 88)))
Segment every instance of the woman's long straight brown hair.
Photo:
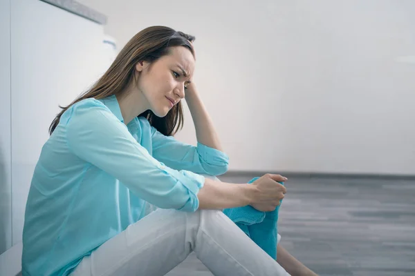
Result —
MULTIPOLYGON (((194 55, 193 41, 194 37, 192 35, 165 26, 152 26, 141 30, 122 48, 107 72, 89 90, 86 90, 68 106, 59 106, 62 111, 50 124, 50 135, 59 124, 62 114, 74 103, 83 99, 104 99, 111 95, 120 95, 133 80, 135 66, 138 62, 154 62, 160 57, 168 55, 169 48, 174 46, 184 46, 194 55)), ((180 102, 163 118, 157 117, 151 110, 138 115, 138 117, 140 116, 146 117, 151 126, 154 126, 164 135, 174 135, 179 129, 183 128, 183 106, 180 102)))

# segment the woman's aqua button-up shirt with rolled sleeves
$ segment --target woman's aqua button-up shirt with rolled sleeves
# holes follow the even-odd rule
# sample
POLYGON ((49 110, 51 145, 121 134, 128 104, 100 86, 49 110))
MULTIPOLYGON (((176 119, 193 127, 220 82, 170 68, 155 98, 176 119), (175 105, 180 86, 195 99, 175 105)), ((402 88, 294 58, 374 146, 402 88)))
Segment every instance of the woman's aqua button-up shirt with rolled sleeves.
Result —
POLYGON ((67 275, 82 257, 145 215, 145 206, 194 212, 225 153, 183 144, 135 118, 115 96, 85 99, 62 115, 42 148, 23 231, 23 275, 67 275))

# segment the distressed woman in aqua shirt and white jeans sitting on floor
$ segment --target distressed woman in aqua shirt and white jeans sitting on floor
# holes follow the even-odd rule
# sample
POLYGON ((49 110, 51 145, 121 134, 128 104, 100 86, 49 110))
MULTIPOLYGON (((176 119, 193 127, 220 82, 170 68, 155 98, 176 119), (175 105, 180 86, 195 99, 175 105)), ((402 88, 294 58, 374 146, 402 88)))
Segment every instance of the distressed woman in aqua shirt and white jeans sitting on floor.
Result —
POLYGON ((192 250, 215 275, 309 272, 283 249, 275 262, 221 213, 273 210, 286 178, 203 177, 225 172, 228 157, 191 82, 192 41, 161 26, 138 32, 53 120, 26 205, 23 275, 165 275, 192 250), (183 98, 196 147, 172 137, 183 98))

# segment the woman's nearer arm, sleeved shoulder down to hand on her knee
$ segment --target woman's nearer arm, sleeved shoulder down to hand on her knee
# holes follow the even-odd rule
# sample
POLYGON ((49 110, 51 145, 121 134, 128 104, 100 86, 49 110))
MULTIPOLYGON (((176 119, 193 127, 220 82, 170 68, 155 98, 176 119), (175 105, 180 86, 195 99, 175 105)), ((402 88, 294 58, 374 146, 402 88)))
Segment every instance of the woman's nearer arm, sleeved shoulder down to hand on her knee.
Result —
POLYGON ((59 124, 65 128, 59 139, 66 140, 69 150, 86 161, 84 168, 95 166, 107 172, 138 197, 160 208, 194 212, 198 208, 255 206, 268 201, 269 207, 281 199, 270 177, 252 184, 224 184, 161 164, 138 144, 107 106, 95 99, 71 106, 59 124))

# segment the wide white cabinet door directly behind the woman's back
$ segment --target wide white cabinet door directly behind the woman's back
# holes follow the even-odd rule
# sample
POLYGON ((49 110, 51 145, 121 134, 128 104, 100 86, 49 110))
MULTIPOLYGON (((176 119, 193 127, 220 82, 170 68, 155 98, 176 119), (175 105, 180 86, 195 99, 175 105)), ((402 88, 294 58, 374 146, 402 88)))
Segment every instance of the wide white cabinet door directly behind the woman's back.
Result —
POLYGON ((12 243, 21 241, 33 170, 58 105, 103 72, 104 28, 38 0, 11 1, 12 243))

